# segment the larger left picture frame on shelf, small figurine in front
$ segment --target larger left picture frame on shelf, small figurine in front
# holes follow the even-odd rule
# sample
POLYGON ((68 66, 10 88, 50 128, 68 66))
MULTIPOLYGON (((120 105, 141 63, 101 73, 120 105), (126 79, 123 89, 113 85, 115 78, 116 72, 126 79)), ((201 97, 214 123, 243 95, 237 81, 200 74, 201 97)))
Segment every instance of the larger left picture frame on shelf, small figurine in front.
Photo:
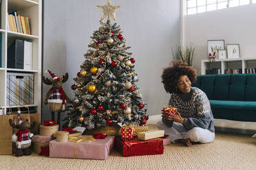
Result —
POLYGON ((207 40, 207 47, 208 47, 208 56, 213 56, 215 52, 215 56, 219 55, 220 49, 225 49, 225 40, 207 40))

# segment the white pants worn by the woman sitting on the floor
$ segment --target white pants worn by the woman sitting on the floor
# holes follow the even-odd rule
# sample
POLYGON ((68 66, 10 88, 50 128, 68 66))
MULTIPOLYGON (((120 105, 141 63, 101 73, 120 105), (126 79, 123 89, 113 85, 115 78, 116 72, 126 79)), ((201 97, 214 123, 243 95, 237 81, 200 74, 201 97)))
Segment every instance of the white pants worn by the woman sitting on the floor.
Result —
POLYGON ((191 130, 186 130, 184 125, 173 122, 172 127, 168 127, 162 121, 156 124, 160 130, 164 130, 164 134, 168 134, 171 142, 181 138, 190 138, 192 142, 211 143, 215 138, 215 133, 201 127, 193 127, 191 130))

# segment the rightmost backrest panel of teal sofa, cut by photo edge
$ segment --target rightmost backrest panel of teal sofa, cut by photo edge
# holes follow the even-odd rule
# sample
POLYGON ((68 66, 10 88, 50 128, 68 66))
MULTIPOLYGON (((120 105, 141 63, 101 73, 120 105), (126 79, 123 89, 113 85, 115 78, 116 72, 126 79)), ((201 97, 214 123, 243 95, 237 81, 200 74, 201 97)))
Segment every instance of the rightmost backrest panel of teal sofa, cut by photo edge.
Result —
POLYGON ((256 74, 247 75, 245 101, 256 101, 256 74))

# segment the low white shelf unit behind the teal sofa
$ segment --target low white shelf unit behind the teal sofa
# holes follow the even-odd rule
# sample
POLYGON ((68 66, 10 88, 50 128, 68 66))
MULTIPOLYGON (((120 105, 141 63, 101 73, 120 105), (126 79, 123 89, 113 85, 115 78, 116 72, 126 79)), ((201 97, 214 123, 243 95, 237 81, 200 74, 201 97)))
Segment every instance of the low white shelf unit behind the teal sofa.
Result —
POLYGON ((256 57, 237 58, 237 59, 216 59, 214 62, 209 60, 201 60, 201 75, 206 74, 206 69, 220 69, 221 74, 224 74, 225 69, 254 69, 256 67, 256 57))

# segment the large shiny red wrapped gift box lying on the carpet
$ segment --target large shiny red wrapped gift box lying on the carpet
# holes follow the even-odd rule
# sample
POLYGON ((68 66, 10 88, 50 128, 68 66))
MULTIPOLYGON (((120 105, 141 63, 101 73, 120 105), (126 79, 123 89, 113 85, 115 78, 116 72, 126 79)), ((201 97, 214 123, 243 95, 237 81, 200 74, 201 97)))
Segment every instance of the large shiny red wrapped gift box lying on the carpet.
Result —
POLYGON ((160 138, 148 141, 137 141, 137 138, 133 141, 122 141, 119 136, 116 136, 115 147, 125 157, 164 154, 164 145, 160 138))

